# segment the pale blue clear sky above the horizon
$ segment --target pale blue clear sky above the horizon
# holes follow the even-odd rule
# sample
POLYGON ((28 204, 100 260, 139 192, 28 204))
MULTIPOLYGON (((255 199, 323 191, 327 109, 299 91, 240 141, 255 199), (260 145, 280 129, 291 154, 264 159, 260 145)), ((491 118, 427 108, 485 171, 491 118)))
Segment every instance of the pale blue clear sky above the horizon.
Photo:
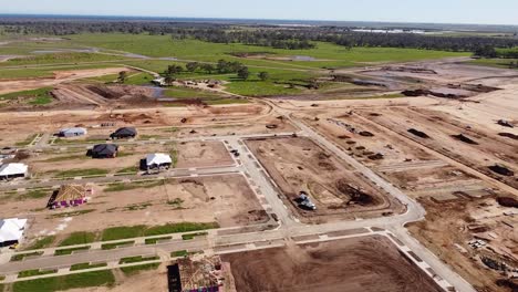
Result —
POLYGON ((518 24, 518 1, 0 0, 0 13, 518 24))

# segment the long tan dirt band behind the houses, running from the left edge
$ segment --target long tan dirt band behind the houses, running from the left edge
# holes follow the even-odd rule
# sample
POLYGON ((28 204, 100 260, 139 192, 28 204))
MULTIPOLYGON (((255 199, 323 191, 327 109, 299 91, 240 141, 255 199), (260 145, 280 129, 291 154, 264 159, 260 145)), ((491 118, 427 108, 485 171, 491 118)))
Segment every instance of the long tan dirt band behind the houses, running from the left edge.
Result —
MULTIPOLYGON (((121 111, 46 111, 0 113, 0 147, 14 146, 34 134, 54 134, 60 128, 83 126, 89 136, 106 138, 123 126, 135 126, 144 139, 152 137, 194 137, 214 134, 250 134, 291 132, 293 126, 268 115, 269 108, 259 104, 229 105, 204 108, 198 106, 175 108, 142 108, 121 111), (182 123, 186 118, 185 123, 182 123), (102 126, 102 124, 110 126, 102 126), (274 129, 266 125, 277 124, 274 129), (252 125, 248 127, 249 125, 252 125), (196 129, 196 133, 191 133, 196 129)), ((86 136, 86 138, 89 138, 86 136)), ((77 140, 83 137, 77 138, 77 140)))

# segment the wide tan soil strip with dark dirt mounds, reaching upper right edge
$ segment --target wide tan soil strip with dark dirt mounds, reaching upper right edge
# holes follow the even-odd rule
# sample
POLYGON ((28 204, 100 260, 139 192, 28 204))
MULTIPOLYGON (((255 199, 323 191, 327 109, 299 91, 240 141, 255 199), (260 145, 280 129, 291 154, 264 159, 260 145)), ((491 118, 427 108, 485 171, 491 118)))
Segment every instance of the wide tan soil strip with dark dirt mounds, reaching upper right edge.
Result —
POLYGON ((511 171, 518 171, 516 169, 518 144, 511 139, 500 137, 485 128, 472 127, 444 113, 423 108, 391 107, 377 116, 370 116, 364 112, 359 114, 385 127, 387 132, 394 131, 479 173, 518 188, 515 175, 500 175, 489 168, 498 164, 511 171), (419 137, 410 133, 410 129, 422 132, 428 137, 419 137), (459 137, 464 137, 464 140, 459 137))

